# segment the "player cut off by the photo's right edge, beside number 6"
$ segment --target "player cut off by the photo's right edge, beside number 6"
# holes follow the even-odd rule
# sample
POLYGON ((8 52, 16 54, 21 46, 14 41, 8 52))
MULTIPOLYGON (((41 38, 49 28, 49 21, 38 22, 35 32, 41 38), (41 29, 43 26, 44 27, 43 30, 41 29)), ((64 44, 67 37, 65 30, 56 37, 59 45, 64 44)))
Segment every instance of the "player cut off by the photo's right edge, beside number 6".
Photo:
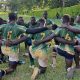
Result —
POLYGON ((80 64, 79 64, 79 55, 80 55, 80 52, 79 52, 79 45, 80 45, 80 15, 78 15, 76 17, 75 22, 76 22, 75 25, 69 26, 69 27, 66 27, 66 28, 69 31, 77 34, 76 35, 77 45, 75 46, 75 57, 74 57, 74 59, 75 59, 75 63, 76 63, 76 68, 79 69, 80 68, 80 64))

